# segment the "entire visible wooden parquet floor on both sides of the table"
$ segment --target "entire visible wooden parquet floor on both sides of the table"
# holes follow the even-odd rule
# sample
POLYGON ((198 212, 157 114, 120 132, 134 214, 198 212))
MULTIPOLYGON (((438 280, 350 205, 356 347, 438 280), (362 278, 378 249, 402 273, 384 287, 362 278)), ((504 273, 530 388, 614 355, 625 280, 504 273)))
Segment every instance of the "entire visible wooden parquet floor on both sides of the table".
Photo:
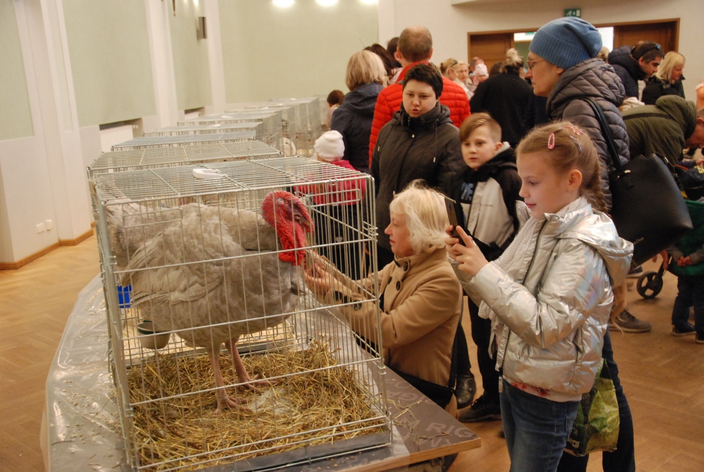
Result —
MULTIPOLYGON (((77 294, 98 272, 95 237, 16 271, 0 271, 0 472, 44 470, 39 425, 46 374, 77 294)), ((629 293, 631 312, 653 323, 653 331, 612 332, 641 472, 704 470, 704 345, 692 336, 670 336, 676 294, 677 279, 669 274, 655 300, 629 293)), ((472 362, 476 365, 474 355, 472 362)), ((450 472, 508 471, 501 423, 468 426, 482 438, 482 447, 460 454, 450 472)), ((600 454, 593 455, 589 471, 601 471, 600 454)))

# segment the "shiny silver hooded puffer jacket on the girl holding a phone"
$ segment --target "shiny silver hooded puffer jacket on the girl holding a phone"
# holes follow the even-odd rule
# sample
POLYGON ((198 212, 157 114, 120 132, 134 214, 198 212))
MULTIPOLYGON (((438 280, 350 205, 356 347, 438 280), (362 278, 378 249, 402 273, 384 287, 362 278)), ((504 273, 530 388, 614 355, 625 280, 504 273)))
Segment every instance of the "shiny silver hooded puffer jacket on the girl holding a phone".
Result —
MULTIPOLYGON (((473 278, 453 263, 472 300, 483 300, 493 311, 497 369, 503 365, 507 380, 561 397, 591 389, 601 364, 611 287, 622 283, 633 254, 633 245, 617 235, 608 216, 592 210, 584 198, 578 202, 564 217, 541 217, 529 250, 512 263, 502 262, 510 257, 510 247, 473 278), (513 269, 501 269, 507 266, 513 269), (523 284, 517 279, 522 274, 523 284)), ((517 213, 521 231, 529 230, 524 203, 517 202, 517 213)))

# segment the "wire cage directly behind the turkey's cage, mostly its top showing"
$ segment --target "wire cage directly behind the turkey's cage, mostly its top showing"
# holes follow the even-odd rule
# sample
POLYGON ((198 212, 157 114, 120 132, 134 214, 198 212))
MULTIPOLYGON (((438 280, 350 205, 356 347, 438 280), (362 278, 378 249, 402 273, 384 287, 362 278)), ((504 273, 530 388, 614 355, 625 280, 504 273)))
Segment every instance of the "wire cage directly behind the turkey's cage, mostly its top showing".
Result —
POLYGON ((280 157, 281 151, 259 141, 111 151, 99 155, 88 167, 88 179, 92 180, 95 174, 110 172, 280 157))

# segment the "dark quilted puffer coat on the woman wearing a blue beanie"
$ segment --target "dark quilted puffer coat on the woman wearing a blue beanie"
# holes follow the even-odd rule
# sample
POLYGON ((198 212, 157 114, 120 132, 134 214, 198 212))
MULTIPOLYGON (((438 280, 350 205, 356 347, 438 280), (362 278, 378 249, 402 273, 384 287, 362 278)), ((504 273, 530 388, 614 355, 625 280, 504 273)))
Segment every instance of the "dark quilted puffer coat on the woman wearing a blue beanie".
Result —
POLYGON ((604 110, 621 162, 628 162, 628 133, 618 110, 624 99, 623 84, 611 66, 601 59, 587 59, 562 72, 562 77, 548 97, 547 110, 551 120, 571 121, 585 129, 591 137, 604 165, 601 188, 606 206, 611 208, 608 171, 613 169, 613 165, 599 122, 589 103, 581 99, 584 97, 591 97, 604 110))

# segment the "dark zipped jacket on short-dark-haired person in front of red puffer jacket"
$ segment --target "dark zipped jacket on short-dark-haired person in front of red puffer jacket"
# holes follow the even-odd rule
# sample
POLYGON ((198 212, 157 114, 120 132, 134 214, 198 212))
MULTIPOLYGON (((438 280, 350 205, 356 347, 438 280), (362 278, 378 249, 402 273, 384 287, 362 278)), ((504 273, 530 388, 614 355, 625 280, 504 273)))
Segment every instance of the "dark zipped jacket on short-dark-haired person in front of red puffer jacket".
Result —
POLYGON ((377 189, 377 243, 391 250, 389 203, 394 192, 402 191, 411 181, 424 179, 429 186, 450 195, 456 174, 465 166, 462 160, 459 130, 452 124, 450 110, 435 104, 425 115, 412 118, 403 109, 379 132, 372 154, 372 177, 377 189))

